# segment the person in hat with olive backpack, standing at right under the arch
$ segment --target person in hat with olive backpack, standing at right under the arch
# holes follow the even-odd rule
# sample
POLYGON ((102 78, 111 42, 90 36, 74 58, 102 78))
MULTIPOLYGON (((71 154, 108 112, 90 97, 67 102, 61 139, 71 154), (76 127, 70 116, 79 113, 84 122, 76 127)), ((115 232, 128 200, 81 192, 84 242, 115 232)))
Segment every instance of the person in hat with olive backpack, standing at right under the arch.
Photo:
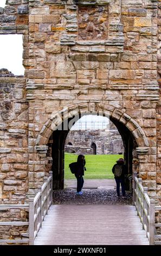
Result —
POLYGON ((124 163, 124 159, 120 158, 116 164, 114 164, 112 168, 112 172, 114 174, 114 179, 117 184, 117 195, 120 197, 120 184, 123 197, 126 197, 125 194, 125 174, 126 174, 126 166, 124 163))

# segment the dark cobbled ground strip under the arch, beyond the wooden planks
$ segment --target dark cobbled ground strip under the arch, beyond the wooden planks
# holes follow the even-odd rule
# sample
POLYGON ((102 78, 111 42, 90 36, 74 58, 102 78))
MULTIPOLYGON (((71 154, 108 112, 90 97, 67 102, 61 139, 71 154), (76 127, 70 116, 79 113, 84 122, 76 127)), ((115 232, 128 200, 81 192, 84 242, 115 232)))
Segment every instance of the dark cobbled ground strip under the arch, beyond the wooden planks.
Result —
POLYGON ((84 189, 82 191, 82 196, 77 196, 76 190, 73 188, 55 190, 53 192, 53 204, 132 204, 132 195, 130 192, 126 192, 126 198, 118 198, 114 190, 84 189))

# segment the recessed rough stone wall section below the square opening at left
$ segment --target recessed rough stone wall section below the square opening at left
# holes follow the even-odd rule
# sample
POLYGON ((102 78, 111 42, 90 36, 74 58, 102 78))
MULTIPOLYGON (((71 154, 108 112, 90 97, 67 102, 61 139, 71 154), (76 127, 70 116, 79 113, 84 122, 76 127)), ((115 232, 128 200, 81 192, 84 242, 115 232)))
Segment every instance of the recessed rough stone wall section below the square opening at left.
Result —
POLYGON ((28 192, 28 102, 25 78, 0 70, 0 202, 23 203, 28 192))

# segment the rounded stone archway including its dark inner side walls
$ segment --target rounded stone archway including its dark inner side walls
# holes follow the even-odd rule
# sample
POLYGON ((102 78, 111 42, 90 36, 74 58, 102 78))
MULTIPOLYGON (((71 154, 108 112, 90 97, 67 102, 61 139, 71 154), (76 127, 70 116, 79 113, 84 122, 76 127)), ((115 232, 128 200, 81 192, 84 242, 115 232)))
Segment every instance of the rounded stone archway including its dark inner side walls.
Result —
MULTIPOLYGON (((125 160, 128 169, 137 170, 139 172, 140 163, 143 168, 144 161, 143 156, 149 151, 149 142, 145 136, 143 129, 139 124, 126 114, 125 109, 112 108, 110 105, 104 105, 101 103, 87 102, 80 103, 79 105, 68 106, 68 108, 62 109, 60 112, 51 114, 50 119, 43 125, 40 133, 36 139, 35 153, 37 159, 42 162, 41 169, 48 170, 48 160, 46 153, 48 151, 49 138, 53 140, 52 157, 53 157, 53 180, 54 189, 63 188, 64 177, 64 145, 65 139, 68 134, 67 130, 57 130, 57 127, 67 123, 76 115, 85 115, 87 113, 110 115, 111 121, 117 126, 120 135, 123 138, 125 147, 125 160), (132 164, 132 155, 134 155, 134 161, 132 164), (141 155, 141 162, 139 162, 139 156, 141 155)), ((38 168, 38 167, 37 167, 38 168)), ((35 170, 35 167, 33 167, 35 170)), ((44 175, 47 175, 44 173, 44 175)))

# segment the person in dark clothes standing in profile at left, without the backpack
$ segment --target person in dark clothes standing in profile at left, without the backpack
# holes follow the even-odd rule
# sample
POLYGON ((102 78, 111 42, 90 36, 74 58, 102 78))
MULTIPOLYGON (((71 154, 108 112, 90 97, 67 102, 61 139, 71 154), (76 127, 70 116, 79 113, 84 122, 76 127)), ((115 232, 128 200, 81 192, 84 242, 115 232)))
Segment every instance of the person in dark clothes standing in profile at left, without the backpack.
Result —
POLYGON ((77 189, 76 189, 77 192, 76 192, 76 194, 81 195, 83 193, 81 190, 82 190, 82 187, 83 187, 83 184, 84 184, 83 175, 85 174, 84 171, 86 170, 85 156, 79 155, 78 159, 77 159, 77 163, 78 163, 78 168, 77 168, 76 173, 75 173, 75 177, 77 179, 77 189))

